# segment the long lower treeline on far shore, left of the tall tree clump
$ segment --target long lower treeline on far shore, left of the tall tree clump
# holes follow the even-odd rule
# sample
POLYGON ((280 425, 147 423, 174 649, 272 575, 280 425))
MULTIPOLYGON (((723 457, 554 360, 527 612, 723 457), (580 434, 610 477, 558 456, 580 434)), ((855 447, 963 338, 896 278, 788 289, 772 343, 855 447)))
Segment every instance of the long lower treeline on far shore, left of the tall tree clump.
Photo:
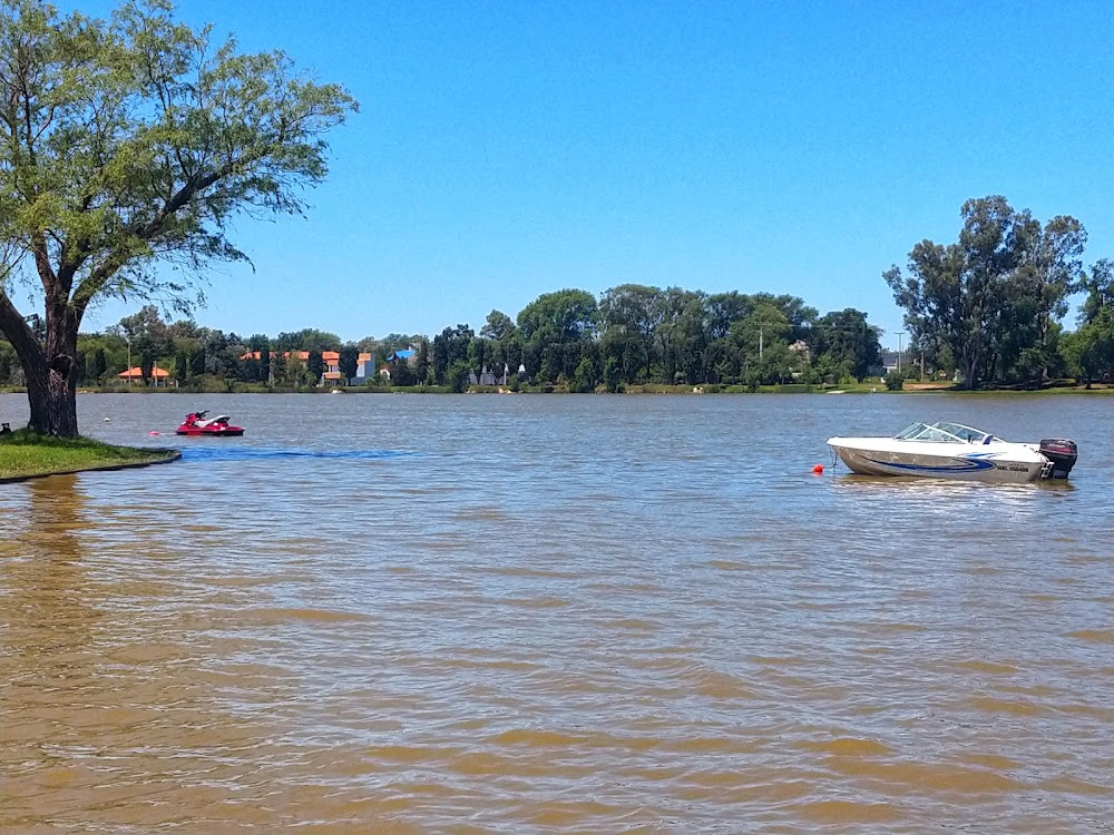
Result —
MULTIPOLYGON (((75 374, 80 384, 100 385, 117 380, 131 363, 145 380, 157 366, 172 372, 178 384, 208 376, 300 387, 321 379, 326 351, 340 355, 344 377, 355 376, 356 357, 367 352, 375 369, 390 367, 394 385, 455 390, 483 369, 499 376, 525 369, 532 382, 573 391, 600 385, 615 391, 634 383, 862 380, 878 373, 881 362, 878 328, 853 308, 819 316, 789 295, 624 284, 599 298, 582 289, 547 293, 517 320, 492 311, 478 335, 458 324, 432 340, 390 334, 345 343, 313 328, 241 337, 192 321, 168 324, 148 305, 106 333, 81 335, 75 374), (397 351, 411 347, 412 357, 395 357, 397 351), (309 360, 287 356, 293 352, 307 352, 309 360)), ((18 382, 12 380, 16 363, 4 365, 4 355, 0 346, 0 383, 18 382)), ((383 382, 377 375, 374 383, 383 382)))

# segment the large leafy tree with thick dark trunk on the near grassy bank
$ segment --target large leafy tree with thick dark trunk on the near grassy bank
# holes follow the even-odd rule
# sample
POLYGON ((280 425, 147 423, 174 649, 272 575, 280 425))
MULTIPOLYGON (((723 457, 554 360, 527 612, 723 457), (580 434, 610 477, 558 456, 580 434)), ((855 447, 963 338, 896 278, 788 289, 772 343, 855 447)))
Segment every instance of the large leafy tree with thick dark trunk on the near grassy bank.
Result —
POLYGON ((246 261, 237 213, 299 214, 328 173, 324 134, 355 109, 281 51, 244 55, 166 0, 109 20, 0 0, 0 331, 27 377, 29 428, 77 435, 77 336, 99 298, 187 311, 212 261, 246 261), (162 268, 160 268, 162 267, 162 268), (176 269, 167 269, 176 267, 176 269), (40 287, 46 335, 9 291, 40 287))

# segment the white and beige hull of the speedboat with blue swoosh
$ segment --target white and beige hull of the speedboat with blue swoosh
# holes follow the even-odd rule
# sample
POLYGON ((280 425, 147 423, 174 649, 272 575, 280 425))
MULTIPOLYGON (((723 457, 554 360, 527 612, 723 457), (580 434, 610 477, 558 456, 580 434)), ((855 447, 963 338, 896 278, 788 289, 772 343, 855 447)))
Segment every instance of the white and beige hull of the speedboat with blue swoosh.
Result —
POLYGON ((860 475, 905 475, 1020 484, 1047 478, 1051 469, 1046 458, 1025 444, 993 444, 986 449, 973 446, 957 452, 886 449, 885 445, 856 443, 857 440, 867 439, 832 438, 828 444, 851 472, 860 475))

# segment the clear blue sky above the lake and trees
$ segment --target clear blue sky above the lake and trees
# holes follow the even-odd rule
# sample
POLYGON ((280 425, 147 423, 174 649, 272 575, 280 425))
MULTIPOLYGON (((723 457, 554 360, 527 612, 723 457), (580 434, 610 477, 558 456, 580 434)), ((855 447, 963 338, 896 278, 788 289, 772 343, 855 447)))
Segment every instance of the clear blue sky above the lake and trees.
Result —
MULTIPOLYGON (((177 13, 244 50, 282 48, 361 104, 306 218, 237 225, 255 271, 218 266, 197 314, 224 331, 478 332, 492 308, 634 282, 858 307, 893 346, 882 272, 922 238, 954 242, 962 203, 989 194, 1043 222, 1074 215, 1087 263, 1114 257, 1107 2, 177 13)), ((130 312, 104 305, 84 330, 130 312)))

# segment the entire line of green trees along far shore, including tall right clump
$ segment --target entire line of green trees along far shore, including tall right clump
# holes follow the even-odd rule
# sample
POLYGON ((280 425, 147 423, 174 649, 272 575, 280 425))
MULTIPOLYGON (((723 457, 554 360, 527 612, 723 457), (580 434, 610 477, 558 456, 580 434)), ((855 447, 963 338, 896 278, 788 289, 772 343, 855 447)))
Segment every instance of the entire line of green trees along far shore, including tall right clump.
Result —
MULTIPOLYGON (((910 252, 907 274, 893 267, 883 276, 906 311, 905 371, 919 374, 924 362, 927 374, 971 386, 1110 380, 1114 263, 1083 268, 1082 225, 1071 217, 1042 225, 1001 197, 969 200, 961 216, 957 243, 924 240, 910 252), (1063 324, 1072 294, 1083 299, 1074 332, 1063 324)), ((144 381, 168 372, 178 385, 285 390, 322 382, 322 354, 335 352, 339 360, 330 360, 344 381, 356 379, 360 364, 360 379, 377 386, 460 391, 475 376, 574 392, 641 383, 756 387, 861 382, 882 370, 879 337, 867 314, 851 307, 820 315, 792 295, 623 284, 598 298, 583 289, 545 293, 515 318, 491 311, 479 334, 457 324, 432 338, 342 342, 313 328, 243 337, 189 321, 169 324, 147 306, 105 333, 82 334, 78 369, 82 385, 119 385, 130 361, 144 381), (379 373, 384 366, 388 373, 379 373)), ((19 383, 19 364, 0 342, 0 384, 19 383)))

